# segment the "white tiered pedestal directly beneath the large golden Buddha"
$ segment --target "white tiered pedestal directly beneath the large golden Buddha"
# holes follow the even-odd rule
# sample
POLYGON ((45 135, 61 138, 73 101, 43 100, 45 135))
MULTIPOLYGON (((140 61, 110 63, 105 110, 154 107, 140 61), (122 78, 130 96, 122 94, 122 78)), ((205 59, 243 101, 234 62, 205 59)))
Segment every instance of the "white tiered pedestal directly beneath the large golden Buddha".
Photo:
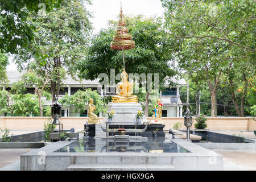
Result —
MULTIPOLYGON (((139 110, 142 110, 142 106, 141 104, 135 102, 116 102, 108 105, 108 112, 114 111, 114 118, 111 122, 117 122, 118 124, 125 122, 127 125, 128 122, 131 123, 131 125, 134 125, 135 116, 139 110)), ((104 123, 107 121, 108 115, 106 115, 103 119, 104 123)))

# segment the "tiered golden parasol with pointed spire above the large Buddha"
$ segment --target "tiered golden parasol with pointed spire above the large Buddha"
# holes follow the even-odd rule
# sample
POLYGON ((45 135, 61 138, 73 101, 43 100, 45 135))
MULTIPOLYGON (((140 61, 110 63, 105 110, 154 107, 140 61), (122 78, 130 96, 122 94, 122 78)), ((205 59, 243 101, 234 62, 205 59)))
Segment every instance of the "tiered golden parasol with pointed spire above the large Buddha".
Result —
MULTIPOLYGON (((115 35, 113 37, 113 41, 110 44, 111 49, 117 50, 124 50, 124 49, 131 49, 135 47, 135 42, 132 39, 132 36, 128 34, 129 29, 125 27, 126 23, 123 20, 123 10, 122 10, 122 3, 121 3, 121 11, 118 20, 118 27, 115 35)), ((125 69, 125 54, 123 51, 123 69, 125 69)))

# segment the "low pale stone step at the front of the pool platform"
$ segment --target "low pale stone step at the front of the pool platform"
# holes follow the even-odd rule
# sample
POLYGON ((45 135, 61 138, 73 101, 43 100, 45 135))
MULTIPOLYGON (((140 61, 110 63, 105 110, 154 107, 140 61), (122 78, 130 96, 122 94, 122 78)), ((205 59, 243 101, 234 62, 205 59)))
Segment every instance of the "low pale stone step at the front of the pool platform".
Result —
POLYGON ((171 164, 71 164, 68 171, 173 171, 171 164))

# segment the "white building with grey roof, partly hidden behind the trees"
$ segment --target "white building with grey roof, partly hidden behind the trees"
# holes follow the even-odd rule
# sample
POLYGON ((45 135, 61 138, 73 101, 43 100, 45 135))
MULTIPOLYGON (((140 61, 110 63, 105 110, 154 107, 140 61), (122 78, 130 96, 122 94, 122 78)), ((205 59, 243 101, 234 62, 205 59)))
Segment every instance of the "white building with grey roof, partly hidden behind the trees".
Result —
MULTIPOLYGON (((10 90, 11 86, 13 86, 14 82, 17 82, 22 78, 23 73, 17 71, 7 71, 7 77, 9 79, 9 83, 6 85, 2 85, 2 88, 5 90, 10 90)), ((71 77, 68 77, 66 80, 63 81, 64 84, 61 86, 59 92, 59 98, 63 97, 65 93, 68 93, 69 96, 75 94, 77 90, 87 89, 90 88, 92 90, 97 90, 98 80, 82 80, 76 81, 73 80, 71 77)), ((162 117, 182 117, 183 113, 183 104, 180 100, 179 89, 181 86, 188 86, 187 82, 182 78, 180 80, 175 80, 176 86, 172 87, 171 89, 168 88, 168 84, 166 84, 166 91, 160 92, 160 98, 162 99, 163 103, 163 110, 162 110, 162 117)), ((27 93, 34 93, 34 88, 27 88, 27 93)), ((111 96, 114 95, 115 92, 110 92, 110 88, 107 90, 101 90, 99 93, 101 96, 111 96)), ((51 105, 51 101, 46 101, 46 98, 42 98, 44 105, 51 105)), ((87 111, 85 113, 76 113, 75 108, 73 106, 69 108, 63 107, 61 109, 63 117, 82 117, 87 115, 87 111)))

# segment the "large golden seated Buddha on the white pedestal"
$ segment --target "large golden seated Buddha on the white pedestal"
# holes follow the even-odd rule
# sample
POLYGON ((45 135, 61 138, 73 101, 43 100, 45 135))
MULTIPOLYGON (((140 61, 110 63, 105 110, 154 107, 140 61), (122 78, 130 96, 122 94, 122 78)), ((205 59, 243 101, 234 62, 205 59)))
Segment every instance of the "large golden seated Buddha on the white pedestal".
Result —
POLYGON ((121 82, 116 86, 117 96, 112 96, 112 102, 138 102, 137 96, 133 96, 133 83, 128 81, 128 74, 123 69, 121 82))

